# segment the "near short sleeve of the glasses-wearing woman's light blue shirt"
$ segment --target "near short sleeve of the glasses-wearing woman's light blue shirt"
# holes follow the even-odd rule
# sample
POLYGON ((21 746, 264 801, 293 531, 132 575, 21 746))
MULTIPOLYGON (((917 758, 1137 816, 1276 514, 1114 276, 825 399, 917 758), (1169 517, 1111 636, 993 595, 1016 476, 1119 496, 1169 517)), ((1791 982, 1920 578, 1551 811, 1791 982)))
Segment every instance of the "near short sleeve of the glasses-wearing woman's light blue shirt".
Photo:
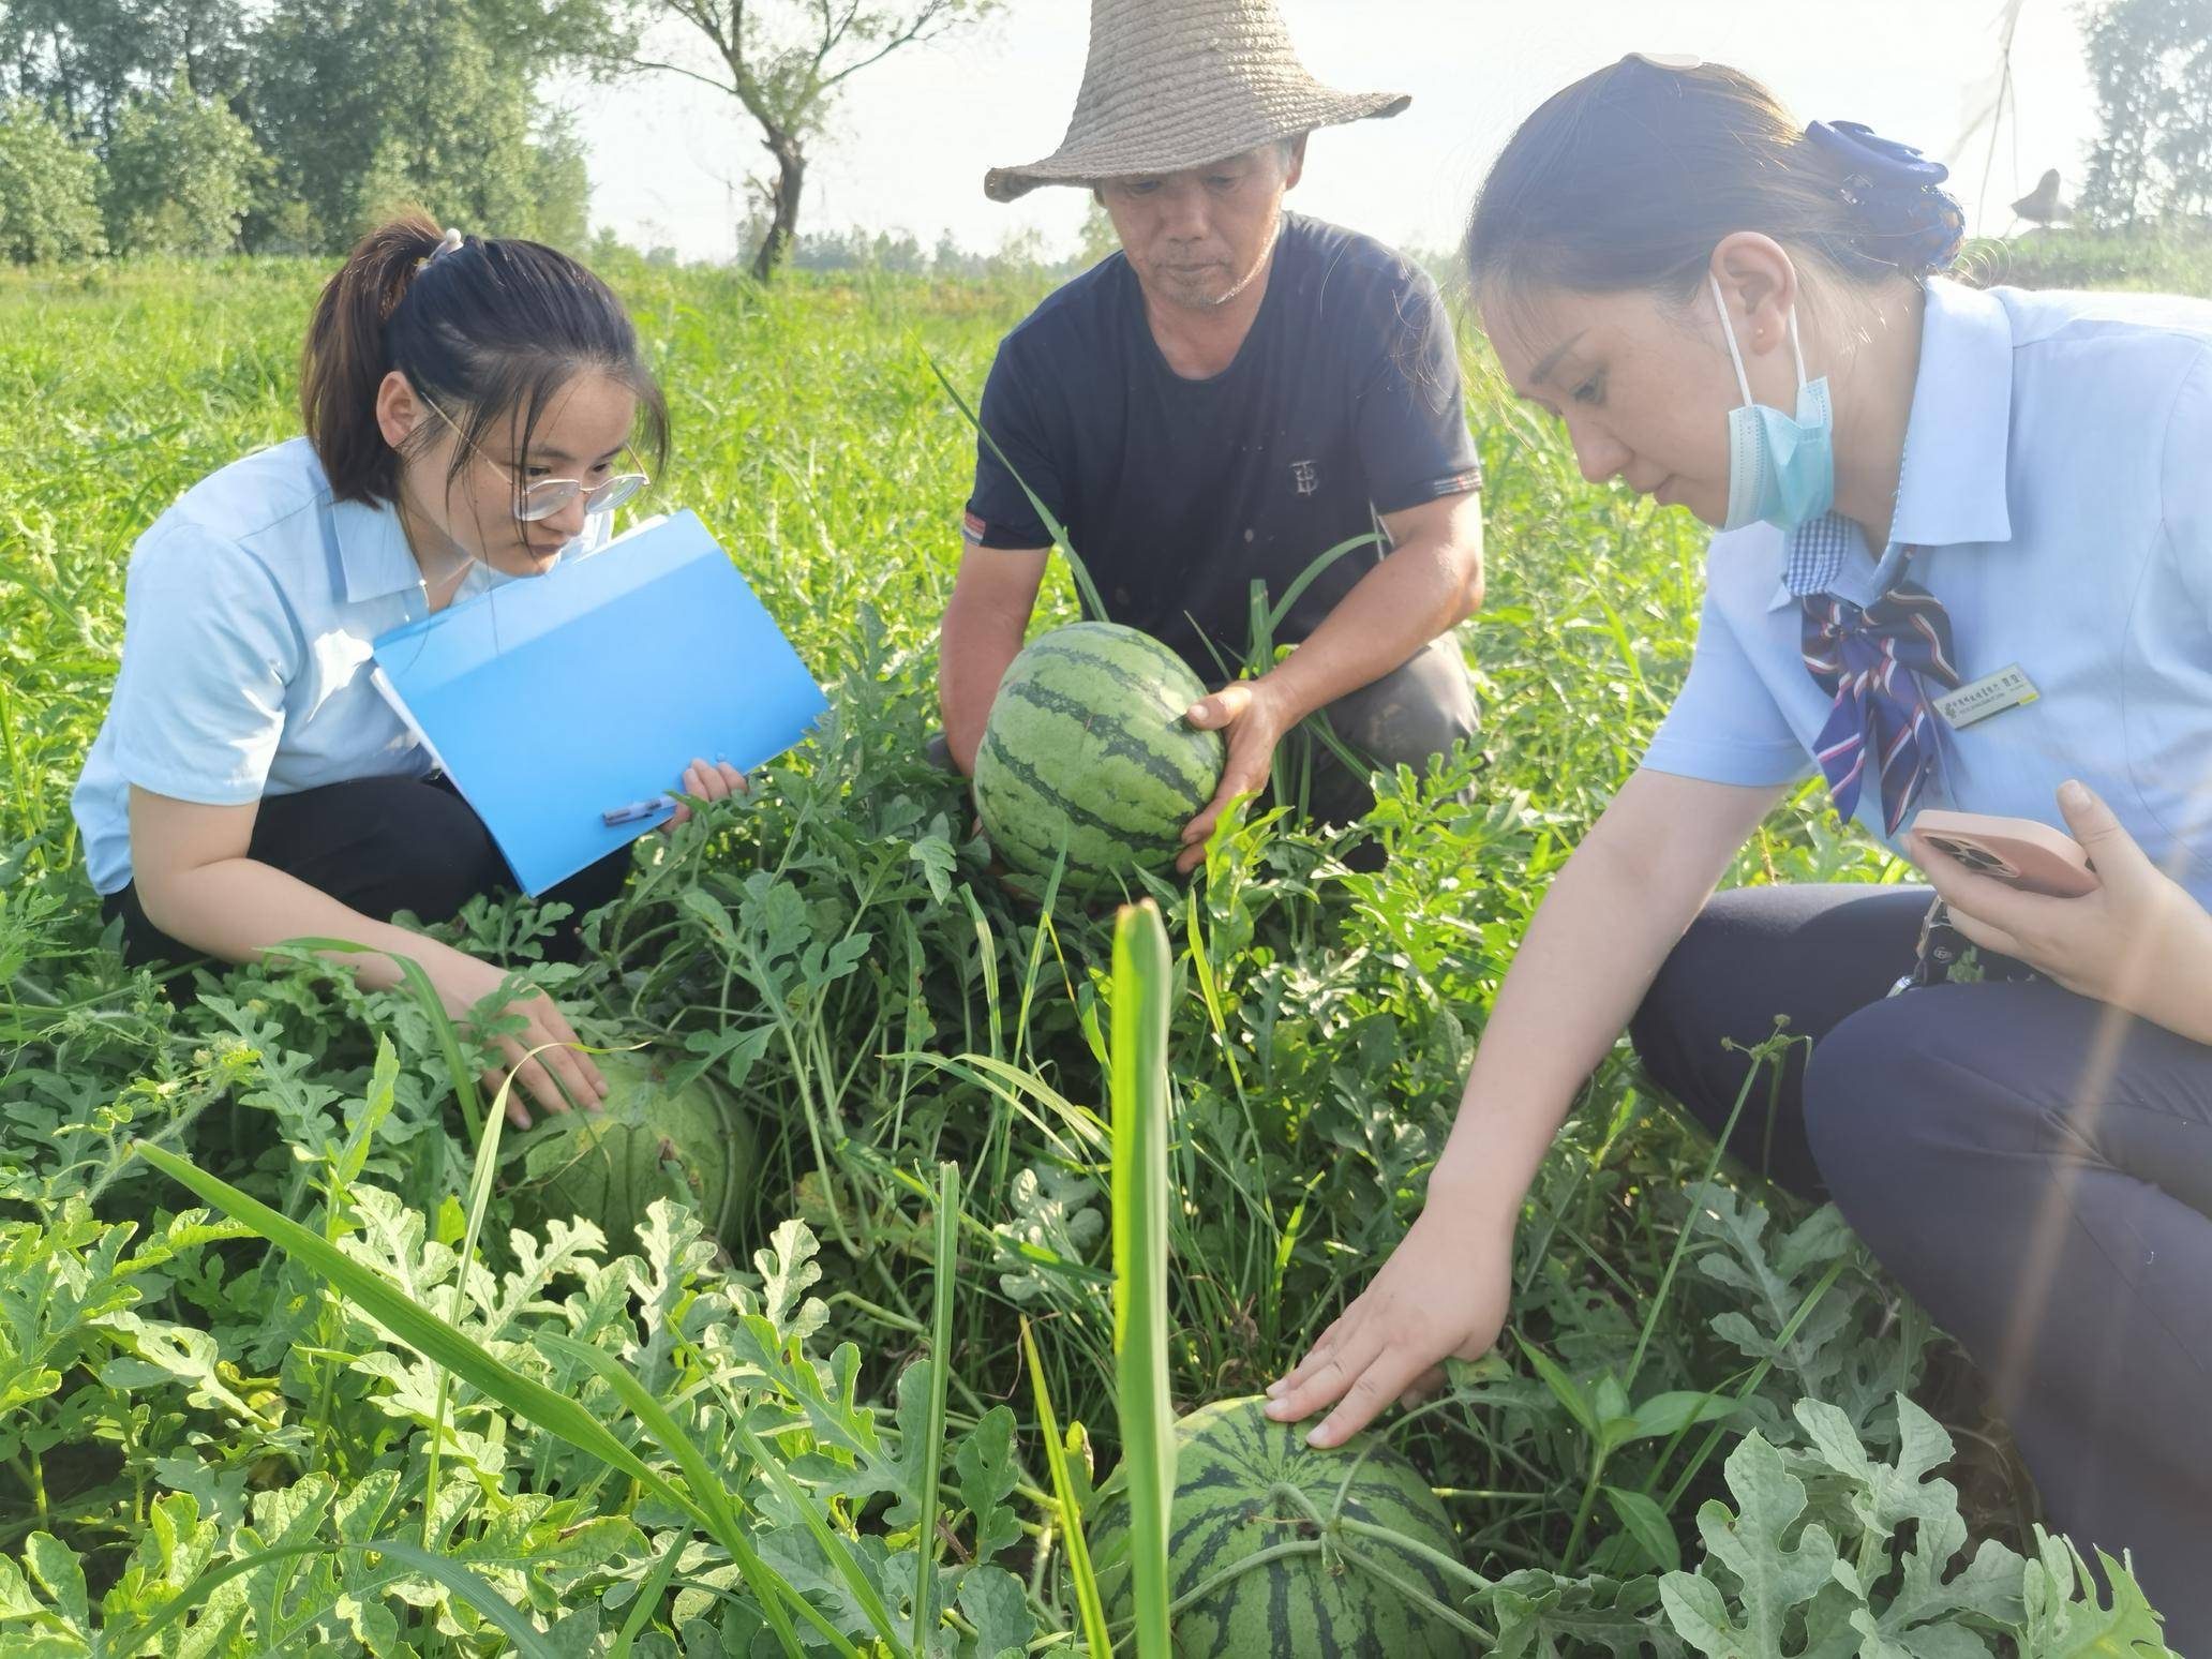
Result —
POLYGON ((305 644, 270 571, 192 524, 139 542, 124 584, 124 661, 108 723, 142 790, 259 801, 305 644))

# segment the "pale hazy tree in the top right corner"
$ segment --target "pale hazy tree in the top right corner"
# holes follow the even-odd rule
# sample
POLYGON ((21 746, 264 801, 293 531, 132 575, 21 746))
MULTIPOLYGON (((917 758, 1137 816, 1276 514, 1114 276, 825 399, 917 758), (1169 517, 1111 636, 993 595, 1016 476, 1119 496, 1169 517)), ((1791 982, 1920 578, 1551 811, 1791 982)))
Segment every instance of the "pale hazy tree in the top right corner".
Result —
POLYGON ((2212 217, 2212 0, 2104 0, 2081 22, 2104 128, 2084 217, 2212 217))

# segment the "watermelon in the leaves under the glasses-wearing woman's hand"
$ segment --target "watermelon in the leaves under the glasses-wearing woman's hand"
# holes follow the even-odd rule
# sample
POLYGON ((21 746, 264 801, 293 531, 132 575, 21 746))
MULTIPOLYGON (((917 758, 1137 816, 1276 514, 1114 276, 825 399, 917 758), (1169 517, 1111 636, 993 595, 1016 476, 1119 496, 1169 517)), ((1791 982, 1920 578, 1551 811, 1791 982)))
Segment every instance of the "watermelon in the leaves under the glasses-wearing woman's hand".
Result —
POLYGON ((604 1110, 542 1113, 502 1152, 515 1223, 597 1221, 611 1250, 635 1250, 655 1199, 679 1199, 719 1239, 752 1179, 752 1124, 708 1077, 681 1088, 650 1048, 595 1055, 604 1110))

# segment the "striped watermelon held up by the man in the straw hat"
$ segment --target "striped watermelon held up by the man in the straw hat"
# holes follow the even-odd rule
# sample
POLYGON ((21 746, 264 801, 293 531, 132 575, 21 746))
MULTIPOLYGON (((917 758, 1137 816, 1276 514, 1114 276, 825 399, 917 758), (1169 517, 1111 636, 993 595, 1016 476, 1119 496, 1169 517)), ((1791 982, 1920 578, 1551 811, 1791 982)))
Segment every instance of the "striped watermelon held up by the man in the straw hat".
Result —
POLYGON ((1170 869, 1221 785, 1223 743, 1183 712, 1206 697, 1150 635, 1077 622, 1006 668, 975 750, 975 814, 1009 869, 1046 876, 1066 847, 1077 894, 1170 869))

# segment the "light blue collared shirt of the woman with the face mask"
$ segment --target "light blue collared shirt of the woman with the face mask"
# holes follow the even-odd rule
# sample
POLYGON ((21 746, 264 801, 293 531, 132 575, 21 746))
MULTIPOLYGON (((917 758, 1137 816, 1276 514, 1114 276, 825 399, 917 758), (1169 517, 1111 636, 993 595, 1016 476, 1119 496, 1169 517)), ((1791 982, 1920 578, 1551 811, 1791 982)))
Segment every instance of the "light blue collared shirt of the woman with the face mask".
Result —
MULTIPOLYGON (((1931 281, 1882 560, 1854 535, 1834 593, 1869 604, 1911 555, 1958 672, 2039 692, 1938 719, 1922 805, 2039 818, 2097 790, 2212 905, 2212 303, 1931 281)), ((1807 776, 1829 695, 1767 524, 1712 538, 1697 657, 1644 765, 1712 783, 1807 776)), ((1942 695, 1942 686, 1931 686, 1942 695)), ((1882 836, 1880 790, 1858 821, 1882 836)))

